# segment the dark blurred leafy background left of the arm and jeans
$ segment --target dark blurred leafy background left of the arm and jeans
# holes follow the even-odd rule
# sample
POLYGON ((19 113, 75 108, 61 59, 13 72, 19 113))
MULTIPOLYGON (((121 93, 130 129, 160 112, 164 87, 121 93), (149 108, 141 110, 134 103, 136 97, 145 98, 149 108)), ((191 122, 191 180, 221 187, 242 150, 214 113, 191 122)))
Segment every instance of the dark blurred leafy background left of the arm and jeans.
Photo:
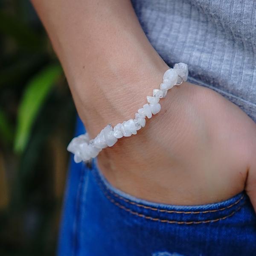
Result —
POLYGON ((29 0, 0 0, 0 255, 54 255, 76 111, 29 0))

